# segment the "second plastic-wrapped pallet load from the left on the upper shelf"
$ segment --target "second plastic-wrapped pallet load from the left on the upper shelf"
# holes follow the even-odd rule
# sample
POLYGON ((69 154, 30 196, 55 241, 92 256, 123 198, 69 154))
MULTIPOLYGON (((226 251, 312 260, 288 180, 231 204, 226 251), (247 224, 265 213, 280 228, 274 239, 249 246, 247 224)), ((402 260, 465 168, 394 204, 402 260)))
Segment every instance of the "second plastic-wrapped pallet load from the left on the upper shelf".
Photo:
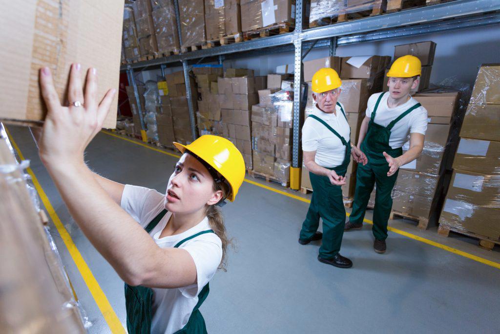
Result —
POLYGON ((135 0, 132 8, 139 44, 139 55, 142 60, 146 60, 158 52, 158 44, 154 35, 151 2, 150 0, 135 0))

